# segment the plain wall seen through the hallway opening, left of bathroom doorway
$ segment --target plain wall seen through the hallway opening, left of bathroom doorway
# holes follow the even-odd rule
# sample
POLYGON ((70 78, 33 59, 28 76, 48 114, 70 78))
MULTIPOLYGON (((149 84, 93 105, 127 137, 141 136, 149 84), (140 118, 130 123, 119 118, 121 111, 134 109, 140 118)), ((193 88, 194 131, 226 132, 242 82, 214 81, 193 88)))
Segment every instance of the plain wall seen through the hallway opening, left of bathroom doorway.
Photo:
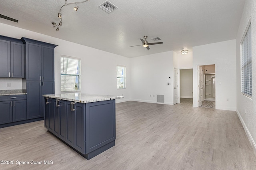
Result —
POLYGON ((180 70, 180 98, 193 98, 193 69, 180 70))

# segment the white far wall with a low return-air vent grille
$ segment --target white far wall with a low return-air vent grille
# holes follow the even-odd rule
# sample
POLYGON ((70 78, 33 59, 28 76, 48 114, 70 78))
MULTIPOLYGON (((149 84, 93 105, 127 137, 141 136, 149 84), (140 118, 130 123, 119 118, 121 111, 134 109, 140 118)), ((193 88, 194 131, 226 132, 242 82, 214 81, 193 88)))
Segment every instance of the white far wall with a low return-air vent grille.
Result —
POLYGON ((132 101, 156 103, 156 95, 164 95, 164 104, 173 105, 173 55, 168 51, 130 59, 132 101))

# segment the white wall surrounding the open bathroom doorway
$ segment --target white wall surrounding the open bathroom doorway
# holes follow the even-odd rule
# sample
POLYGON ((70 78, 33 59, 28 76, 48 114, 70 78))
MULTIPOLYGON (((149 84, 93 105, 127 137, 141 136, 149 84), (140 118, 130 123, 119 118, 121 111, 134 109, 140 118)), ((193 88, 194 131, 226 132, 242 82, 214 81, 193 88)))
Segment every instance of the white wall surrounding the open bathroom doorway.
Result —
POLYGON ((198 107, 198 65, 211 64, 215 64, 216 109, 235 111, 236 40, 193 47, 193 107, 198 107))

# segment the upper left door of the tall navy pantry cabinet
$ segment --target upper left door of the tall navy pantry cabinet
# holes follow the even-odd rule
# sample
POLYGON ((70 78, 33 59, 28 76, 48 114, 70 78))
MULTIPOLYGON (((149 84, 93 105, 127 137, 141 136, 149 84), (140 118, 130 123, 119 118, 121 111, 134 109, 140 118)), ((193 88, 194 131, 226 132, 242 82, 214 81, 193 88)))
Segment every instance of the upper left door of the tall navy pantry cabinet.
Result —
POLYGON ((26 43, 26 81, 42 80, 41 45, 26 43))

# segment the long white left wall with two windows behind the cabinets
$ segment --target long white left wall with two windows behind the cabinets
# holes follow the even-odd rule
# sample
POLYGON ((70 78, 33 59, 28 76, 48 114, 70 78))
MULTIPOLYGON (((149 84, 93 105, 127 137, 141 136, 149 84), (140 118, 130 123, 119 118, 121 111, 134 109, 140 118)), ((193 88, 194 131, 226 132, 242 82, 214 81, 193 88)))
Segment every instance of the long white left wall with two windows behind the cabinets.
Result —
MULTIPOLYGON (((130 59, 106 51, 94 49, 77 43, 53 38, 36 32, 31 32, 14 26, 0 23, 0 35, 12 38, 26 37, 33 40, 48 42, 58 45, 55 48, 55 93, 60 93, 60 55, 81 58, 81 92, 104 95, 124 95, 130 99, 130 59), (116 65, 126 66, 127 88, 116 89, 116 65)), ((56 32, 58 34, 58 32, 56 32)), ((9 80, 7 80, 9 81, 9 80)), ((13 80, 15 88, 22 89, 22 81, 13 80)), ((12 83, 12 84, 14 84, 12 83)), ((0 79, 0 89, 6 89, 6 80, 0 79)))

